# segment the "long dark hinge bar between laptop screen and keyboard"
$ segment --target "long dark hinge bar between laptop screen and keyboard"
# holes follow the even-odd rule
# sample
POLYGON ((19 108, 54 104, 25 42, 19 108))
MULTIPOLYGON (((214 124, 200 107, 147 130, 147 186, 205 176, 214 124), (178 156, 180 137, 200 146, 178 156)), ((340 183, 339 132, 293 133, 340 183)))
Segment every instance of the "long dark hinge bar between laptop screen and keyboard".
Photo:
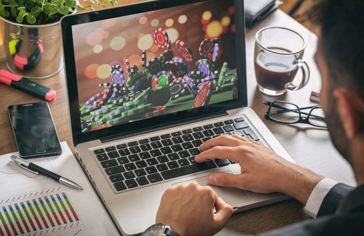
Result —
POLYGON ((137 136, 137 135, 140 135, 140 134, 150 133, 150 132, 154 132, 154 131, 158 131, 158 130, 165 130, 165 129, 169 129, 169 128, 172 128, 172 127, 175 127, 175 126, 186 125, 186 124, 191 123, 191 122, 198 122, 198 121, 204 121, 206 119, 222 117, 224 115, 228 115, 228 113, 226 111, 220 111, 218 113, 212 113, 212 114, 209 114, 207 116, 204 115, 204 116, 197 117, 197 118, 193 117, 193 118, 185 119, 183 121, 171 122, 168 125, 162 124, 162 125, 158 125, 158 126, 155 126, 155 127, 148 127, 148 128, 141 129, 141 130, 130 131, 130 132, 124 133, 122 135, 112 135, 112 136, 107 137, 107 138, 101 138, 100 142, 107 143, 107 142, 115 141, 115 140, 118 140, 118 139, 137 136))

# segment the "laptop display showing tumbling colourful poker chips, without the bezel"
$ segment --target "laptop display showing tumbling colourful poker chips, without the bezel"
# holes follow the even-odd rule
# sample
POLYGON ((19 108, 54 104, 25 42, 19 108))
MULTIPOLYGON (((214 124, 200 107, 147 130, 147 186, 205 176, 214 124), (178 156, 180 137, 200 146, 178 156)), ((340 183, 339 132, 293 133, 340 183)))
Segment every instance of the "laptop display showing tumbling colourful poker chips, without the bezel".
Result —
POLYGON ((233 0, 72 25, 83 133, 237 98, 233 0))

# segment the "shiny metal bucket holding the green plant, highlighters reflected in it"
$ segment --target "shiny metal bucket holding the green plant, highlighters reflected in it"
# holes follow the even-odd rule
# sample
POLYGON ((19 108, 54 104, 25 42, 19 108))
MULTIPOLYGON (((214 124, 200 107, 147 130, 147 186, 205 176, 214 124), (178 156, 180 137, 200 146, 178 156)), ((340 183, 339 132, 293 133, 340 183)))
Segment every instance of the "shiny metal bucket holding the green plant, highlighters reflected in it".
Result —
POLYGON ((59 21, 46 25, 24 25, 0 17, 1 39, 6 65, 15 74, 44 79, 63 68, 59 21))

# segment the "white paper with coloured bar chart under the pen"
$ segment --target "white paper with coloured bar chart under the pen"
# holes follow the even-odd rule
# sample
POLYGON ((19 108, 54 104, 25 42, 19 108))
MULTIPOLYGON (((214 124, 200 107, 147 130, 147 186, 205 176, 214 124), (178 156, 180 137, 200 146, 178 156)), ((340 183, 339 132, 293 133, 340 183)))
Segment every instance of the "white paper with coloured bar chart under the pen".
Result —
POLYGON ((61 145, 62 155, 30 161, 83 190, 24 170, 10 159, 17 153, 0 156, 0 236, 118 235, 67 143, 61 145))

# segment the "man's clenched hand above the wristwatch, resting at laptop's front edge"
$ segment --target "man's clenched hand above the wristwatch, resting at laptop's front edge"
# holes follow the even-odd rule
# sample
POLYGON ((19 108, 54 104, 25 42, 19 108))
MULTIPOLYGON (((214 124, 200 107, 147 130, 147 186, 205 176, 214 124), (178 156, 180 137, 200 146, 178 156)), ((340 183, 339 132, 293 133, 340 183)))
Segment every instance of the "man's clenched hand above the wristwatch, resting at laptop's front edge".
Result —
POLYGON ((155 223, 168 225, 182 236, 214 235, 232 213, 233 208, 218 198, 211 187, 192 182, 165 191, 155 223))

